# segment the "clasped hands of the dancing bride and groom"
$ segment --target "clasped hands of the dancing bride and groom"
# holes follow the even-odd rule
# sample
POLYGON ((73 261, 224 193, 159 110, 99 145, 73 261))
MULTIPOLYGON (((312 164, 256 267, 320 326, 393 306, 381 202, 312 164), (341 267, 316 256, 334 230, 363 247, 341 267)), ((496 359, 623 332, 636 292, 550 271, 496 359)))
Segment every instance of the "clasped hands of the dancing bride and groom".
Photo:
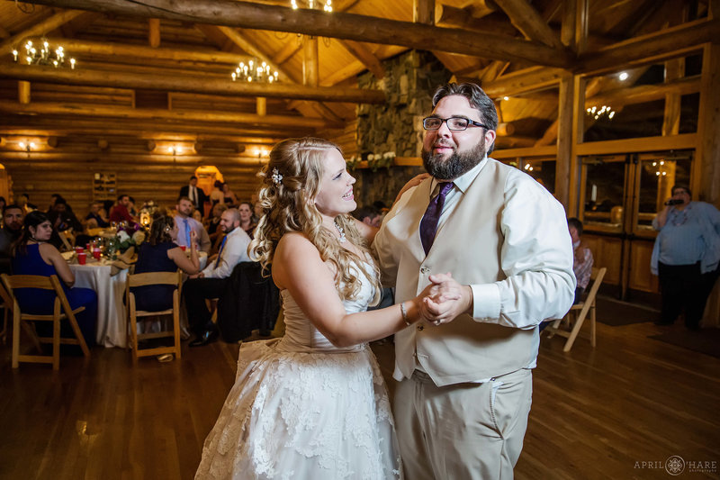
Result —
POLYGON ((430 285, 418 295, 420 316, 430 323, 452 322, 458 315, 473 308, 473 290, 461 285, 452 274, 429 276, 430 285))

